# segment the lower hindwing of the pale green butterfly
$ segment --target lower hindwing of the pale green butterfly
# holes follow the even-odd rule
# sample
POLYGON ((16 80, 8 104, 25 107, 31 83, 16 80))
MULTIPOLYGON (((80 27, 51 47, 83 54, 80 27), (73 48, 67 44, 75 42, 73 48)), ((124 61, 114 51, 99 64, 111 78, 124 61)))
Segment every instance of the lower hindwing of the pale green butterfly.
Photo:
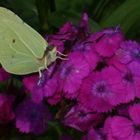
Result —
POLYGON ((9 44, 1 42, 4 49, 0 52, 0 60, 3 68, 13 74, 24 75, 34 73, 39 70, 40 67, 44 66, 44 59, 37 60, 33 56, 19 53, 11 48, 9 44), (9 51, 7 51, 7 49, 9 51))

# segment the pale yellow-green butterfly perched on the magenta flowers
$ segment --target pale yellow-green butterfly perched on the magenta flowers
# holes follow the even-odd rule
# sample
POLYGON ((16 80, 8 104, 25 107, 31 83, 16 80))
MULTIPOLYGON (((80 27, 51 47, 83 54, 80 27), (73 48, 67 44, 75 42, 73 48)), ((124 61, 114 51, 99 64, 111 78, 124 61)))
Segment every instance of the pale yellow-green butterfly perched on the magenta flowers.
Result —
POLYGON ((12 11, 0 7, 0 63, 13 74, 40 73, 61 54, 12 11))

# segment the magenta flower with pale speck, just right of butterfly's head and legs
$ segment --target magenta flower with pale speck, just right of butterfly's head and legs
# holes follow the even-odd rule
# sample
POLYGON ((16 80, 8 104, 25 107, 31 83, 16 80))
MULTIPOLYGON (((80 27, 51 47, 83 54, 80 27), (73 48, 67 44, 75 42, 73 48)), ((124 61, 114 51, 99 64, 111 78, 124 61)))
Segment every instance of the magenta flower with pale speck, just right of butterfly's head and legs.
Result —
POLYGON ((81 53, 71 53, 68 60, 60 65, 56 78, 59 79, 59 90, 64 91, 66 98, 75 98, 82 79, 89 74, 89 65, 81 53))

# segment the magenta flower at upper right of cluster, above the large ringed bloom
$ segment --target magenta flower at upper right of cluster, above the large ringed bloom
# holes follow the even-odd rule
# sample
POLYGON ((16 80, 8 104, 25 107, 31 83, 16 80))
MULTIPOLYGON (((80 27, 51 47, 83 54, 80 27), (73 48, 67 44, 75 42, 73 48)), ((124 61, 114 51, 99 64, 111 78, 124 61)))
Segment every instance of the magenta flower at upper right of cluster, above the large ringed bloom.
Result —
POLYGON ((123 40, 124 36, 120 30, 106 32, 95 45, 96 51, 103 57, 111 57, 123 40))

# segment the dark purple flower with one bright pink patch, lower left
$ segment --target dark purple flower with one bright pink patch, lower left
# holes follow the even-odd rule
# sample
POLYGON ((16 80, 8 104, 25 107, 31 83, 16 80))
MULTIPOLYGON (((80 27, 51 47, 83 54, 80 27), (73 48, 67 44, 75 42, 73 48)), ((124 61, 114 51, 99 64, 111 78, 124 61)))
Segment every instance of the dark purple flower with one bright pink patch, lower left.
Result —
POLYGON ((47 130, 47 122, 51 115, 47 106, 36 104, 29 99, 24 100, 16 108, 16 127, 20 132, 39 135, 47 130))

